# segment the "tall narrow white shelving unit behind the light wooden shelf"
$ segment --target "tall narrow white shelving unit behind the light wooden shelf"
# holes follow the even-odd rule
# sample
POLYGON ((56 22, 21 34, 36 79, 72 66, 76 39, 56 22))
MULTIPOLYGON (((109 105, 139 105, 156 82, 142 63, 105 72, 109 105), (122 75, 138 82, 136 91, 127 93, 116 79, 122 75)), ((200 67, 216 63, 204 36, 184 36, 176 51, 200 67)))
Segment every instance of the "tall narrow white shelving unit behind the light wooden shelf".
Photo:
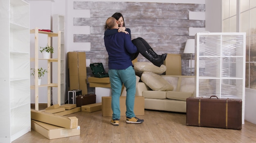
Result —
MULTIPOLYGON (((65 48, 64 48, 64 31, 65 31, 65 17, 64 15, 58 15, 55 14, 52 16, 52 31, 57 32, 61 31, 61 104, 65 104, 65 93, 66 93, 66 81, 65 81, 65 48)), ((58 43, 52 43, 53 47, 57 47, 58 43)), ((57 56, 57 53, 54 53, 53 56, 57 56)), ((57 74, 57 67, 53 66, 53 75, 57 74)), ((56 80, 56 78, 53 77, 53 81, 56 80)), ((53 94, 55 94, 57 91, 53 90, 53 94)), ((56 98, 53 98, 53 104, 57 101, 56 98)))

